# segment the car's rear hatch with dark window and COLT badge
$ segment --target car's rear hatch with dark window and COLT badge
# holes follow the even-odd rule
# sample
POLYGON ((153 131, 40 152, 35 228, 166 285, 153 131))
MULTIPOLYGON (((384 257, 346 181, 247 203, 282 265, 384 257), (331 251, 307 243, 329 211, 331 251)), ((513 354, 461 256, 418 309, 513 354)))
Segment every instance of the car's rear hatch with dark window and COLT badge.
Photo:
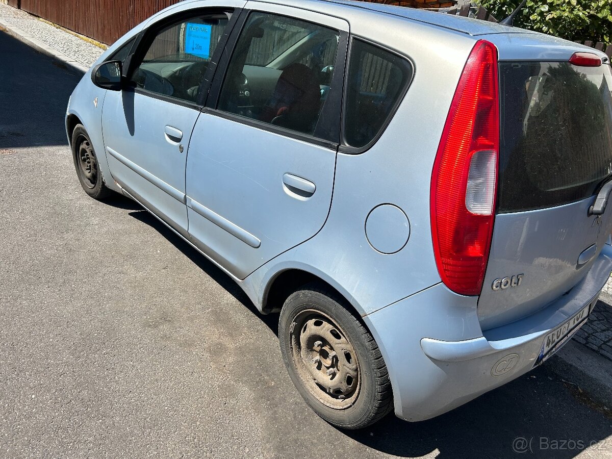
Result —
POLYGON ((612 174, 611 89, 606 64, 499 62, 498 198, 478 302, 483 330, 569 292, 608 239, 612 205, 600 217, 589 207, 612 174), (579 264, 585 250, 592 256, 579 264))

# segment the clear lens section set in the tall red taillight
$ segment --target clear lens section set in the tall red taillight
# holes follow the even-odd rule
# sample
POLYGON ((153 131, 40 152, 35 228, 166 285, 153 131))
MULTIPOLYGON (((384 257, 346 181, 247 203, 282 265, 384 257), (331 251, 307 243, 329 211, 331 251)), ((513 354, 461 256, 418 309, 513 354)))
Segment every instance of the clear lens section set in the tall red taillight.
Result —
POLYGON ((469 163, 465 207, 472 214, 491 215, 495 201, 497 152, 477 151, 469 163))

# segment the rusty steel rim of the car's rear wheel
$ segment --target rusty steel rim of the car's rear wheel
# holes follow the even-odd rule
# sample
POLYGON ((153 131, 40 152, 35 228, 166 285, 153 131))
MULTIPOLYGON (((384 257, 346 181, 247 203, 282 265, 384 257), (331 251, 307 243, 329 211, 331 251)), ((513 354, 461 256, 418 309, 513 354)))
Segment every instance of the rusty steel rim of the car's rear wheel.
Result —
POLYGON ((345 332, 329 316, 307 309, 297 314, 289 333, 291 355, 308 392, 329 408, 353 406, 361 372, 345 332))

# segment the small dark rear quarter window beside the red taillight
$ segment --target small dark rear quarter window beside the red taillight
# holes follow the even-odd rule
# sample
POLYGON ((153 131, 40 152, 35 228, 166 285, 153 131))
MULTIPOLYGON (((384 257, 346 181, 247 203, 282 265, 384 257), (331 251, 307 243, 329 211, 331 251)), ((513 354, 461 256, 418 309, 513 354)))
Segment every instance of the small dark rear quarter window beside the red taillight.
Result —
POLYGON ((365 147, 382 132, 412 78, 397 54, 353 39, 346 87, 344 140, 365 147))

